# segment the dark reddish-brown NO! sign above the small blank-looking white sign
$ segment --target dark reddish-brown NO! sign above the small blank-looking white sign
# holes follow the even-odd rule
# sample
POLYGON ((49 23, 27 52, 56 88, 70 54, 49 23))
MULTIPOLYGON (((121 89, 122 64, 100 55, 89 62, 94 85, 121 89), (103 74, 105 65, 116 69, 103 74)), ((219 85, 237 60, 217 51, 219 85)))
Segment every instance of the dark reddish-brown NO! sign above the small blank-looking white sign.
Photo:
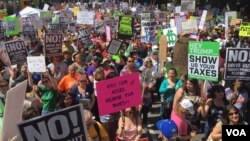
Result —
POLYGON ((62 55, 62 40, 63 35, 60 33, 45 34, 45 55, 62 55))

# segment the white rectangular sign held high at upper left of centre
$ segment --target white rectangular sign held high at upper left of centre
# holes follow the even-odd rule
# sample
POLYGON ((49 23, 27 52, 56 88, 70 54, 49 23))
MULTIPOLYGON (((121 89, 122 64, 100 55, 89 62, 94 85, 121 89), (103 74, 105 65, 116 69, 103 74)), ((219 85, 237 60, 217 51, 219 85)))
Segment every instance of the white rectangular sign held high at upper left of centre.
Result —
POLYGON ((77 24, 94 25, 95 13, 87 11, 79 11, 77 14, 77 24))

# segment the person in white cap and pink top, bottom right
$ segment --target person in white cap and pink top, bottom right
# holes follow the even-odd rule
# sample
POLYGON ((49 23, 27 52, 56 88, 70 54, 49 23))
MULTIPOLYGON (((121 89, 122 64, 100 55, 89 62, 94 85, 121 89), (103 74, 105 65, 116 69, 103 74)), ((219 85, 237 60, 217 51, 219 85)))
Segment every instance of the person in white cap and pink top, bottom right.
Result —
POLYGON ((177 103, 175 109, 171 113, 171 120, 175 122, 178 127, 177 141, 189 140, 196 135, 196 131, 192 129, 190 132, 188 128, 192 127, 186 119, 187 115, 195 113, 193 103, 189 99, 183 99, 177 103))

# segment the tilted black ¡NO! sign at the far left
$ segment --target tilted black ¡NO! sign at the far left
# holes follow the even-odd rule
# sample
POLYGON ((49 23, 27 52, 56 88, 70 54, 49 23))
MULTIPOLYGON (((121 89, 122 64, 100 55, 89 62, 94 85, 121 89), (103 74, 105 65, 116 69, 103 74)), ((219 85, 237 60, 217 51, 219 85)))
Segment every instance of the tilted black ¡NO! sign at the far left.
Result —
POLYGON ((6 51, 10 58, 11 65, 21 64, 26 62, 26 57, 28 56, 28 51, 25 46, 24 41, 11 41, 5 44, 6 51))

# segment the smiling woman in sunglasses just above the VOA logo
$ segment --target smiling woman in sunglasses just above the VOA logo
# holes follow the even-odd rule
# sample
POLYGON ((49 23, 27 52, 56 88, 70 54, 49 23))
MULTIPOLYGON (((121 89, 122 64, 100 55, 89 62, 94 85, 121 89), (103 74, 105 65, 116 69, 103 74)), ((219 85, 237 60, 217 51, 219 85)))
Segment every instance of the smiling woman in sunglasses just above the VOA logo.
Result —
POLYGON ((216 123, 212 132, 210 133, 208 140, 221 141, 222 139, 222 125, 246 125, 247 123, 243 120, 240 115, 240 111, 234 105, 228 105, 220 118, 216 123))

